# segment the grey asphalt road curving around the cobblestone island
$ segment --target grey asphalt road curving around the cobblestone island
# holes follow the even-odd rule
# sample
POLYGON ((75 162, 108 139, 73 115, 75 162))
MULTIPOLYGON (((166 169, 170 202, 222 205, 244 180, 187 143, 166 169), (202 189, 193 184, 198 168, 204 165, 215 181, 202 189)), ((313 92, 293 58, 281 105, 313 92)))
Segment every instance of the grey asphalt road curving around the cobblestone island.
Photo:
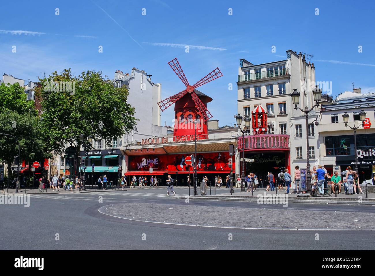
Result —
MULTIPOLYGON (((175 188, 186 195, 186 188, 175 188)), ((227 192, 226 189, 222 192, 227 192)), ((192 191, 191 191, 192 192, 192 191)), ((30 207, 0 205, 1 250, 361 250, 375 248, 372 230, 272 230, 206 228, 157 224, 121 219, 99 213, 98 209, 118 203, 131 203, 131 211, 150 204, 181 207, 184 200, 165 195, 165 188, 132 189, 117 192, 77 193, 71 195, 31 195, 30 207), (99 202, 102 196, 102 202, 99 202), (136 204, 134 204, 136 203, 136 204)), ((124 205, 126 208, 126 205, 124 205)), ((190 201, 189 206, 204 212, 205 206, 239 208, 247 212, 262 209, 266 215, 278 215, 282 205, 258 205, 254 202, 190 201)), ((367 205, 292 204, 289 210, 320 211, 355 217, 374 216, 375 207, 367 205)), ((146 213, 147 210, 142 210, 146 213)), ((189 214, 187 212, 187 214, 189 214)), ((194 216, 199 216, 195 212, 194 216)), ((241 217, 242 213, 239 212, 241 217)), ((301 217, 303 219, 303 217, 301 217)), ((317 218, 319 219, 319 218, 317 218)), ((233 217, 236 220, 236 217, 233 217)), ((264 225, 266 228, 267 224, 264 225)), ((369 229, 369 228, 368 228, 369 229)), ((375 229, 375 222, 374 227, 375 229)))

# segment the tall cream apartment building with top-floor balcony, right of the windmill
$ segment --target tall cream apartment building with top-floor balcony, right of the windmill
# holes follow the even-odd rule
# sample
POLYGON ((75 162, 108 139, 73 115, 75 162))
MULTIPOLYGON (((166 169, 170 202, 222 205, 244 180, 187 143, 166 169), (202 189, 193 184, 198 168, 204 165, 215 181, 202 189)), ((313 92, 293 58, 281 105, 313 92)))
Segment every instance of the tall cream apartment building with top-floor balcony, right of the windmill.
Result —
MULTIPOLYGON (((245 153, 245 158, 258 160, 256 162, 260 163, 259 167, 253 164, 252 168, 254 169, 252 170, 261 170, 258 172, 261 176, 265 176, 271 169, 276 175, 285 167, 291 169, 291 162, 296 159, 293 145, 295 125, 291 118, 304 114, 300 110, 294 109, 290 94, 293 89, 300 92, 300 108, 312 105, 314 97, 311 84, 315 83, 314 63, 307 62, 305 54, 301 52, 297 54, 293 50, 288 50, 285 60, 275 62, 253 64, 245 59, 240 59, 238 72, 238 113, 242 116, 251 115, 252 110, 260 104, 267 112, 267 134, 273 134, 274 138, 272 139, 275 141, 276 139, 289 141, 282 149, 278 148, 276 143, 274 145, 271 143, 267 145, 269 149, 266 151, 260 149, 260 143, 258 143, 258 148, 246 149, 245 146, 245 152, 248 151, 247 154, 245 153), (266 167, 263 163, 266 163, 266 167)), ((305 133, 306 129, 303 130, 302 126, 301 131, 305 133)), ((245 137, 245 142, 252 136, 252 130, 246 134, 249 137, 245 137)), ((259 139, 264 139, 264 136, 259 139)), ((241 166, 240 162, 236 166, 241 166)), ((248 172, 250 165, 246 166, 248 172)), ((236 170, 241 171, 240 167, 236 170)))

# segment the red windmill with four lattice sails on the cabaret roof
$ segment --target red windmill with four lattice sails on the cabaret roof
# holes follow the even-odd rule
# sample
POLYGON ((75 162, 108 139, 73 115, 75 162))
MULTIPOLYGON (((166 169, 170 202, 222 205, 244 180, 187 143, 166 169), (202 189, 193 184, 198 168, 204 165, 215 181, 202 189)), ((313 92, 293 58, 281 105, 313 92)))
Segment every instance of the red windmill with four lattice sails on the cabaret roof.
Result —
POLYGON ((168 64, 186 86, 186 89, 182 90, 180 93, 157 103, 162 111, 172 104, 175 104, 174 140, 179 136, 194 135, 194 119, 197 119, 198 139, 206 139, 206 134, 208 133, 207 121, 212 118, 211 113, 207 110, 207 103, 212 101, 212 98, 196 90, 196 88, 216 78, 222 77, 223 74, 220 72, 219 68, 216 68, 194 85, 190 85, 177 58, 171 60, 168 64))

